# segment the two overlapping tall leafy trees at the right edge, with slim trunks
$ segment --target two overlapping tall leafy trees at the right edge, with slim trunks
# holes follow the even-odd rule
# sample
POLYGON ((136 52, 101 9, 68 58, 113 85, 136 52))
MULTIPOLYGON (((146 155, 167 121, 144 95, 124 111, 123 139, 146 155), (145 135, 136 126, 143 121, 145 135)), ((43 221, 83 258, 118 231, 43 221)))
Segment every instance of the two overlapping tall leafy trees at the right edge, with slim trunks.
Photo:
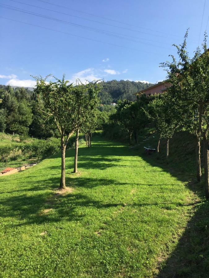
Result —
POLYGON ((186 51, 186 39, 177 46, 179 61, 172 56, 171 63, 166 62, 168 78, 172 82, 172 93, 175 99, 181 102, 185 115, 185 123, 190 132, 196 135, 196 164, 197 178, 201 179, 200 139, 203 141, 205 194, 209 198, 209 50, 206 38, 201 52, 198 47, 194 57, 189 58, 186 51))

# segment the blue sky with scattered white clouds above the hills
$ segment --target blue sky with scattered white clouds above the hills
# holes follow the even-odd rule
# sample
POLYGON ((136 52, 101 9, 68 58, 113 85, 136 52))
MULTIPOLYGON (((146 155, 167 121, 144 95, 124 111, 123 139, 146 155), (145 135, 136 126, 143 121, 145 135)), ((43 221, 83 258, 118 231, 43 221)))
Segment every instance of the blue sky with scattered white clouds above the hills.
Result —
POLYGON ((14 86, 34 86, 31 74, 50 73, 59 78, 64 73, 72 82, 157 82, 166 77, 159 63, 176 54, 172 44, 183 41, 188 27, 191 54, 206 26, 209 32, 208 0, 0 0, 0 5, 0 84, 14 86))

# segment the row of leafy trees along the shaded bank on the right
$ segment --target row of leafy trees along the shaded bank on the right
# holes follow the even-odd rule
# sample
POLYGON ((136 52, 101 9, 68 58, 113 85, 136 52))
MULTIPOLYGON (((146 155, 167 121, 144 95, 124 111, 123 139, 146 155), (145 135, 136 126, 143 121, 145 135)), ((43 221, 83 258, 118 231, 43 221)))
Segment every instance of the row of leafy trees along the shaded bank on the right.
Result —
POLYGON ((209 50, 206 37, 203 51, 198 47, 194 57, 189 58, 186 51, 186 39, 177 46, 176 61, 162 63, 167 71, 166 83, 172 84, 160 95, 141 95, 137 101, 119 102, 116 113, 110 117, 113 124, 120 124, 128 134, 131 143, 132 135, 152 123, 159 135, 157 156, 162 138, 166 139, 166 159, 169 157, 169 140, 177 129, 184 128, 196 136, 197 180, 201 180, 201 144, 203 142, 205 194, 209 198, 209 50))

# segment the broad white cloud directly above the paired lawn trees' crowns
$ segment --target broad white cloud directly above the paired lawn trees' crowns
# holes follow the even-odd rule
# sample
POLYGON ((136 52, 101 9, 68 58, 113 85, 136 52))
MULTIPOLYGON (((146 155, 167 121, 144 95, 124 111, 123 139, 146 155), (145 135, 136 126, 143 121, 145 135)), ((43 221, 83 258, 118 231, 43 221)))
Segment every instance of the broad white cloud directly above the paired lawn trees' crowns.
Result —
POLYGON ((80 79, 82 83, 88 83, 88 81, 91 82, 93 80, 98 80, 102 78, 98 77, 94 68, 88 68, 73 74, 72 78, 69 79, 69 82, 75 83, 76 79, 80 79))

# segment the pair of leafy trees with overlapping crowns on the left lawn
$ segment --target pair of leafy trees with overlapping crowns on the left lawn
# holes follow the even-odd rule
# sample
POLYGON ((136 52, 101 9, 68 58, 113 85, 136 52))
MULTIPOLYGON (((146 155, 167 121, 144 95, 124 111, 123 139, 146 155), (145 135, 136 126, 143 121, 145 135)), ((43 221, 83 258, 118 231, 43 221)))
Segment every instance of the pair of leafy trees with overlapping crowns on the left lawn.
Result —
POLYGON ((55 78, 55 81, 46 82, 46 78, 34 77, 37 81, 37 98, 41 113, 46 120, 52 118, 60 135, 61 147, 61 179, 59 189, 65 184, 65 151, 70 137, 76 133, 74 172, 77 172, 79 132, 91 132, 98 104, 98 93, 101 85, 98 81, 87 85, 77 80, 75 86, 65 80, 55 78))

